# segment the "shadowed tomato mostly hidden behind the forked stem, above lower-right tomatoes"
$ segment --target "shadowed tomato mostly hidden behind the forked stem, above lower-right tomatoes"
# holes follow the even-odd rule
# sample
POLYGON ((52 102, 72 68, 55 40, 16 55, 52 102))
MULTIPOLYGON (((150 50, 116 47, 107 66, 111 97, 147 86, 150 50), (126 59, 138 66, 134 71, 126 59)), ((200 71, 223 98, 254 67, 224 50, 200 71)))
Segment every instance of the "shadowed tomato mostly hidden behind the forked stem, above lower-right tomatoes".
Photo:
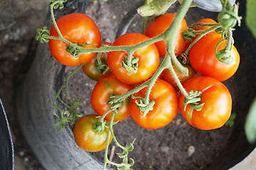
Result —
MULTIPOLYGON (((178 79, 181 81, 181 84, 185 84, 186 81, 188 81, 189 79, 196 77, 197 76, 197 72, 195 69, 193 69, 193 67, 191 67, 190 64, 182 64, 183 67, 188 68, 188 74, 183 74, 183 72, 181 72, 181 70, 179 70, 174 64, 174 71, 176 72, 176 75, 178 76, 178 79)), ((160 79, 163 79, 167 82, 169 82, 169 84, 171 84, 171 86, 174 87, 174 89, 176 89, 176 91, 179 91, 178 85, 176 84, 174 77, 171 75, 171 72, 169 69, 164 69, 164 71, 161 73, 160 75, 160 79)))

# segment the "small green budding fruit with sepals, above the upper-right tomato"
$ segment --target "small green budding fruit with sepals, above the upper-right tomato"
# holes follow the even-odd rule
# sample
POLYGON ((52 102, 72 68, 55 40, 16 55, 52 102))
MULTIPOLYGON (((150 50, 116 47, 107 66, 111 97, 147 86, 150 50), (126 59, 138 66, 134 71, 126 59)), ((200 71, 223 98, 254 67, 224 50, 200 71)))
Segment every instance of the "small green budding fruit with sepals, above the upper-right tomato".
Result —
POLYGON ((218 21, 224 28, 233 28, 238 23, 240 26, 241 17, 238 16, 238 4, 234 6, 230 1, 222 0, 223 10, 218 13, 218 21))

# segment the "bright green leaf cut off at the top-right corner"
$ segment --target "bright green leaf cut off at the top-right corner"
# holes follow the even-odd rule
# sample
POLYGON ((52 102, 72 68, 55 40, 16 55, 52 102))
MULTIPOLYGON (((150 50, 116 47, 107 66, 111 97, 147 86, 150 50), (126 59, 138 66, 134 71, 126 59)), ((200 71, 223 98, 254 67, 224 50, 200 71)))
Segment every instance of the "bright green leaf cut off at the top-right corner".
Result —
POLYGON ((255 0, 247 0, 246 1, 246 16, 245 23, 247 27, 252 32, 254 38, 256 38, 256 1, 255 0))

